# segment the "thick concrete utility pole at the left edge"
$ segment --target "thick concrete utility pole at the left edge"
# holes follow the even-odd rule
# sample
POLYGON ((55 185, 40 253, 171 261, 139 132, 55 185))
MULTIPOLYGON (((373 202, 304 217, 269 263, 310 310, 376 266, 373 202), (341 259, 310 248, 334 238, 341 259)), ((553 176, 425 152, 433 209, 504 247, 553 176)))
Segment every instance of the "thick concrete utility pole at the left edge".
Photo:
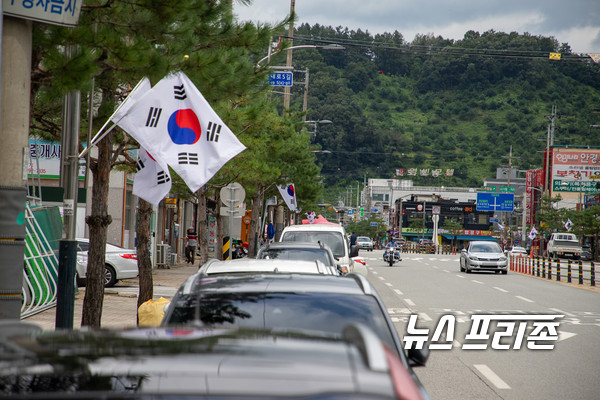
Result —
MULTIPOLYGON (((6 3, 6 2, 5 2, 6 3)), ((4 16, 0 109, 0 320, 19 319, 23 302, 32 23, 4 16)))

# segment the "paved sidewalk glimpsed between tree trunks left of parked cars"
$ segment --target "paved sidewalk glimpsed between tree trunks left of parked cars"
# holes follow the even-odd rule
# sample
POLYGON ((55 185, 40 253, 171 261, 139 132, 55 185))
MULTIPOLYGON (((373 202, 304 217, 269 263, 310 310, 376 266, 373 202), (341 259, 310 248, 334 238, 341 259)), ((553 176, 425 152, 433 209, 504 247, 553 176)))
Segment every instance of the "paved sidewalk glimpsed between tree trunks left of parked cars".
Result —
MULTIPOLYGON (((171 299, 179 286, 192 274, 198 271, 198 265, 190 266, 180 263, 170 269, 154 269, 152 282, 154 284, 153 300, 160 297, 171 299)), ((135 327, 137 319, 138 278, 124 279, 115 286, 104 290, 104 304, 102 307, 102 328, 135 327)), ((73 313, 73 328, 81 327, 81 311, 85 287, 79 288, 75 295, 73 313)), ((56 307, 49 308, 41 313, 25 318, 23 321, 41 326, 43 329, 53 330, 56 320, 56 307)))

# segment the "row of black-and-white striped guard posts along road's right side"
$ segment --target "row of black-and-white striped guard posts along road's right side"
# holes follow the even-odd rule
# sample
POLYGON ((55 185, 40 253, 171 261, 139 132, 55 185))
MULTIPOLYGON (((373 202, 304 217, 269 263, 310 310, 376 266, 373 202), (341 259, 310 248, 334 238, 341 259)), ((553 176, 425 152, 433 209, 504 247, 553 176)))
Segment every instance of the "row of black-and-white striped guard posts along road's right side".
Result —
POLYGON ((565 261, 561 263, 558 258, 517 256, 510 257, 510 270, 558 282, 598 286, 596 265, 593 261, 590 261, 589 265, 584 265, 581 260, 568 259, 565 264, 565 261))

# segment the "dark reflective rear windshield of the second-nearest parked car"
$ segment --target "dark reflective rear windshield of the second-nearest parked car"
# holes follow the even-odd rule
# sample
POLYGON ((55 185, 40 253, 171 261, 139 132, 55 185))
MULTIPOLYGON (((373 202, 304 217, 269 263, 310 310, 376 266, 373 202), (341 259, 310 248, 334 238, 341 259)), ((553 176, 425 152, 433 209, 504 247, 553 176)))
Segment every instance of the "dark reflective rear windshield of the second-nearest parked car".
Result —
MULTIPOLYGON (((197 305, 196 295, 182 296, 174 304, 169 324, 194 321, 197 305)), ((371 296, 306 292, 204 294, 199 312, 202 323, 212 327, 300 330, 336 337, 345 326, 356 322, 373 328, 390 348, 396 349, 384 314, 371 296)))

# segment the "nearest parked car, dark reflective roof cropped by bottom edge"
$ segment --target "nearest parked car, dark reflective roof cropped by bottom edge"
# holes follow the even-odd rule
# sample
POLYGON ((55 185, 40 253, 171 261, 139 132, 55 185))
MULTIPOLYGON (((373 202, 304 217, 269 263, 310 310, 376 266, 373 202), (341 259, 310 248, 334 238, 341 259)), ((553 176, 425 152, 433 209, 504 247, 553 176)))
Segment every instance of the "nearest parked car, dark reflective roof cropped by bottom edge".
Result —
POLYGON ((428 398, 401 360, 356 324, 339 337, 191 327, 32 331, 2 343, 0 387, 10 398, 428 398))

